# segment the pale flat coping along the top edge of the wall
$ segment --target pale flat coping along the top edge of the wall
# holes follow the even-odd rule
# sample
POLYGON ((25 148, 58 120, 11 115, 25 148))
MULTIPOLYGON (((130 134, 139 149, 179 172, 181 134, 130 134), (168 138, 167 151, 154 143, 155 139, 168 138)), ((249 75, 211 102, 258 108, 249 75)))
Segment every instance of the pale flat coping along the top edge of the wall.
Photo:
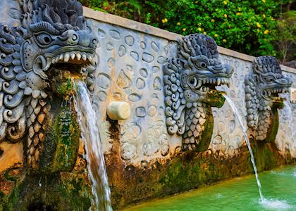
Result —
MULTIPOLYGON (((156 37, 161 37, 164 39, 168 39, 171 41, 178 41, 182 37, 180 34, 175 34, 173 32, 168 32, 166 30, 161 30, 159 28, 153 27, 151 25, 147 25, 144 23, 137 22, 135 20, 129 20, 127 18, 122 18, 117 15, 111 15, 109 13, 103 13, 101 11, 94 11, 92 8, 87 8, 83 6, 83 15, 86 18, 91 18, 94 20, 99 20, 104 23, 109 23, 111 25, 118 25, 121 27, 128 28, 130 30, 135 30, 138 32, 144 32, 146 34, 151 34, 156 37)), ((233 51, 230 49, 223 48, 221 46, 218 46, 218 52, 221 54, 224 54, 226 56, 232 56, 235 58, 240 58, 242 60, 247 60, 250 62, 253 62, 254 56, 249 56, 245 53, 240 53, 238 51, 233 51)), ((292 72, 296 74, 295 68, 290 68, 285 65, 280 65, 280 68, 285 72, 292 72)))

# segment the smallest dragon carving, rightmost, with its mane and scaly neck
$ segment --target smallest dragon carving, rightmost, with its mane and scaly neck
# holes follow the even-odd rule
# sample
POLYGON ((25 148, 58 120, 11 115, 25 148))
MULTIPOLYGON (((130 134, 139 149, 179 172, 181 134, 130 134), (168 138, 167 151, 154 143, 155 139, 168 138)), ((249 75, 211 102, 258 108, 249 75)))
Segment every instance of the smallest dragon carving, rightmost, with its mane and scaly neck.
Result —
POLYGON ((253 74, 245 77, 245 98, 247 124, 256 130, 257 141, 267 140, 269 135, 276 134, 277 110, 283 108, 284 101, 278 94, 288 92, 291 84, 292 79, 282 75, 276 58, 259 56, 254 60, 253 74))

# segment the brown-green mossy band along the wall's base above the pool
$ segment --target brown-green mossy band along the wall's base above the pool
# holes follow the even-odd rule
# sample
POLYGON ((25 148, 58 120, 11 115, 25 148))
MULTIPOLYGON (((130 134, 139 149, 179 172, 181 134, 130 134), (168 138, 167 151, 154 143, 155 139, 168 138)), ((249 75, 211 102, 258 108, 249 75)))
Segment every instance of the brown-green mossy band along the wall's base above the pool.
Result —
MULTIPOLYGON (((113 134, 116 132, 113 131, 113 134)), ((242 146, 233 157, 220 151, 212 153, 208 150, 175 154, 168 160, 143 160, 140 165, 135 166, 121 160, 121 151, 116 147, 117 143, 119 141, 113 139, 112 153, 106 155, 114 209, 254 173, 247 146, 242 146)), ((292 162, 278 153, 274 143, 257 146, 253 141, 252 148, 259 171, 292 162)))

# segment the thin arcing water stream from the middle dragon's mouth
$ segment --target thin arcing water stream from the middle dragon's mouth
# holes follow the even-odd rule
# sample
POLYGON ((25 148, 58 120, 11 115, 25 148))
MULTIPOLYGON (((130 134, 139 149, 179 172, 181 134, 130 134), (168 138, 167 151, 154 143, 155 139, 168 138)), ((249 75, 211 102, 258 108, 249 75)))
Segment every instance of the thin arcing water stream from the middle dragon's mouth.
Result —
POLYGON ((226 101, 228 101, 231 109, 233 110, 233 113, 235 114, 235 117, 238 119, 238 122, 240 123, 240 127, 242 129, 242 133, 245 136, 245 141, 247 143, 247 148, 249 149, 249 153, 251 155, 251 162, 252 162, 252 165, 253 165, 253 168, 254 168, 254 172, 255 172, 255 176, 256 176, 256 180, 257 180, 257 185, 258 185, 258 188, 259 188, 260 199, 261 199, 261 202, 263 202, 264 201, 264 196, 263 196, 262 191, 261 191, 261 184, 260 184, 260 181, 259 181, 258 171, 257 171, 257 167, 256 167, 256 164, 255 164, 255 159, 254 159, 253 151, 252 151, 252 148, 251 148, 251 144, 249 143, 249 138, 247 137, 247 130, 245 129, 244 124, 242 123, 242 117, 240 116, 240 113, 238 112, 238 109, 235 107, 235 104, 233 103, 233 101, 226 94, 223 94, 223 96, 226 98, 226 101))

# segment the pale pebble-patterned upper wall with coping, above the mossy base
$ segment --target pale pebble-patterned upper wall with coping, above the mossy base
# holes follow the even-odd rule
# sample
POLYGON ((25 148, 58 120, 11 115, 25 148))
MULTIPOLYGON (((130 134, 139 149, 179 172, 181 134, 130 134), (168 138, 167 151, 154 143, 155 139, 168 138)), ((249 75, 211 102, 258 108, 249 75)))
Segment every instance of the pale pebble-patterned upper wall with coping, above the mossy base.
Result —
MULTIPOLYGON (((168 151, 173 153, 180 146, 181 138, 170 136, 166 132, 161 68, 167 58, 176 55, 176 45, 180 35, 156 28, 149 29, 150 26, 145 29, 146 25, 132 20, 124 20, 125 25, 123 25, 121 20, 124 18, 92 12, 89 8, 85 10, 86 16, 93 18, 89 23, 92 30, 97 32, 100 41, 97 49, 99 66, 94 104, 99 111, 97 118, 101 127, 101 136, 105 141, 105 153, 108 153, 111 148, 109 136, 105 136, 108 134, 106 131, 109 127, 105 121, 106 106, 110 101, 126 101, 131 108, 130 118, 118 122, 121 126, 120 142, 123 160, 135 164, 143 159, 149 161, 153 158, 166 158, 169 155, 168 151), (102 19, 106 20, 105 23, 101 22, 102 19)), ((221 47, 218 51, 222 63, 234 68, 230 88, 223 85, 218 89, 226 91, 226 94, 235 102, 240 114, 246 117, 245 75, 252 72, 254 57, 221 47)), ((295 70, 281 67, 285 72, 284 75, 292 77, 295 81, 295 70)), ((290 96, 285 94, 284 97, 292 106, 290 96)), ((280 111, 280 123, 289 124, 289 127, 292 127, 292 123, 288 123, 292 122, 289 119, 292 115, 288 113, 293 112, 293 109, 292 106, 288 110, 286 106, 280 111)), ((213 114, 214 134, 210 149, 231 156, 245 142, 241 129, 228 103, 225 103, 222 108, 214 108, 213 114)), ((244 120, 247 127, 246 118, 244 120)), ((282 132, 286 136, 292 136, 291 132, 289 132, 291 135, 287 134, 287 127, 280 124, 276 143, 281 152, 284 153, 287 148, 296 158, 295 143, 289 141, 290 138, 280 139, 282 132)))

